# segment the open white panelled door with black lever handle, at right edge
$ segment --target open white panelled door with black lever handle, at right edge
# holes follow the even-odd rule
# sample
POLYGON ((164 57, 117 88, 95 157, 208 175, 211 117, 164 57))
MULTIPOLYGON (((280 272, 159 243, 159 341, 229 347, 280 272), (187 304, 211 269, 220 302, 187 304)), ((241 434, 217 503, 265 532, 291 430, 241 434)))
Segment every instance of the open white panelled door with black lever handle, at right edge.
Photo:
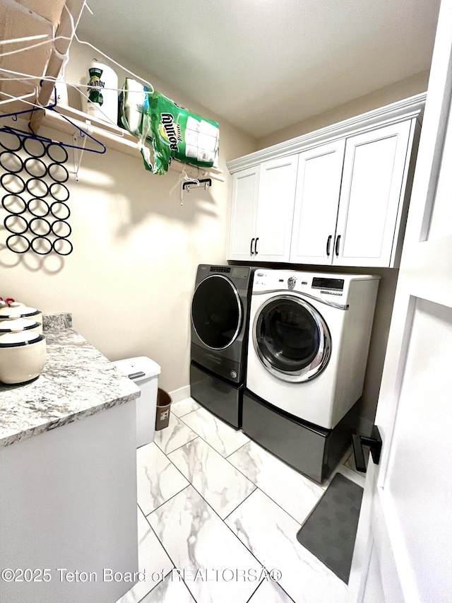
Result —
POLYGON ((452 602, 452 0, 443 0, 349 582, 350 601, 452 602))

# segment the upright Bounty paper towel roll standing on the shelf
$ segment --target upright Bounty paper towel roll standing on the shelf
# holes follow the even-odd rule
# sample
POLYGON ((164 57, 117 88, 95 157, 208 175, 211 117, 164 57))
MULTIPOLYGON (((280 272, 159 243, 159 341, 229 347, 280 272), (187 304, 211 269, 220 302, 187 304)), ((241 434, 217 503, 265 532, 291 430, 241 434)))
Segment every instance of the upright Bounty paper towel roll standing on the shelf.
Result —
POLYGON ((108 65, 93 59, 86 86, 88 103, 86 112, 105 122, 118 121, 118 76, 108 65))

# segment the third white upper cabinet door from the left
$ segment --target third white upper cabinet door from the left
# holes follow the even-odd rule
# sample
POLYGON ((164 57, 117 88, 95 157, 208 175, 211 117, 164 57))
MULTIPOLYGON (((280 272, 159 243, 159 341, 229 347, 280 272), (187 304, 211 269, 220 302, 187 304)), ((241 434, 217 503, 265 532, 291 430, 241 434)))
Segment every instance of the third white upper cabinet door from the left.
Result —
POLYGON ((299 154, 290 262, 331 264, 345 139, 299 154))

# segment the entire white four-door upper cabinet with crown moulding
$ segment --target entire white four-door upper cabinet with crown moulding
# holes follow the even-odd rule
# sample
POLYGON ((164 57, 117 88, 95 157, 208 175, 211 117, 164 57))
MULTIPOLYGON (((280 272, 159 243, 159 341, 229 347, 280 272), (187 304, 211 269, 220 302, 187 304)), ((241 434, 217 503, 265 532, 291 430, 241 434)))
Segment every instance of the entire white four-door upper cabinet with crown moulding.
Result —
POLYGON ((228 162, 228 258, 397 267, 424 101, 417 95, 228 162))

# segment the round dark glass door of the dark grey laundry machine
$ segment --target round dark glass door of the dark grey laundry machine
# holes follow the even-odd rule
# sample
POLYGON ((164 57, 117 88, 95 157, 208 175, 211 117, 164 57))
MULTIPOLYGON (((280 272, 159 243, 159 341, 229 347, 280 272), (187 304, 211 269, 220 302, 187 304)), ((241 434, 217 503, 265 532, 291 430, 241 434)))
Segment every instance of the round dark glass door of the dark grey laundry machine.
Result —
POLYGON ((215 350, 223 350, 242 328, 242 301, 232 282, 214 274, 196 287, 191 303, 191 320, 199 339, 215 350))

